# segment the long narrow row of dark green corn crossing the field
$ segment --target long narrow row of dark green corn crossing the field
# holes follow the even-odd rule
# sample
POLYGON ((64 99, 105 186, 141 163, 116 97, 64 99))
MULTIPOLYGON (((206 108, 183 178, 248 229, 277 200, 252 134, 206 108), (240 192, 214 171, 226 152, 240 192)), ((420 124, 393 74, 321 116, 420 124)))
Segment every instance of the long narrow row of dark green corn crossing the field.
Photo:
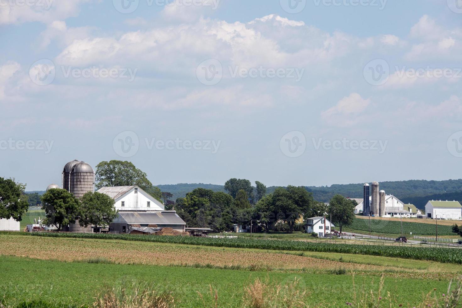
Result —
POLYGON ((315 251, 342 254, 365 254, 414 260, 429 260, 462 264, 462 250, 456 248, 420 248, 400 246, 378 246, 357 244, 329 244, 298 241, 257 240, 249 238, 209 238, 194 236, 145 236, 128 234, 95 234, 36 232, 32 236, 72 237, 106 240, 158 242, 172 244, 203 245, 230 248, 256 248, 286 251, 315 251))

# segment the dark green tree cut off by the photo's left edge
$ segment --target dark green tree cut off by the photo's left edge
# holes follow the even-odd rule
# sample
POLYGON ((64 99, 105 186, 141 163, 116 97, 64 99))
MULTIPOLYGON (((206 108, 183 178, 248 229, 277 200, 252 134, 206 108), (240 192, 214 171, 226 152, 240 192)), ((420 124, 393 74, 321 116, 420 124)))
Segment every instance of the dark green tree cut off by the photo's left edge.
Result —
POLYGON ((14 179, 0 177, 0 219, 13 218, 21 221, 29 206, 24 190, 24 184, 16 183, 14 179))

